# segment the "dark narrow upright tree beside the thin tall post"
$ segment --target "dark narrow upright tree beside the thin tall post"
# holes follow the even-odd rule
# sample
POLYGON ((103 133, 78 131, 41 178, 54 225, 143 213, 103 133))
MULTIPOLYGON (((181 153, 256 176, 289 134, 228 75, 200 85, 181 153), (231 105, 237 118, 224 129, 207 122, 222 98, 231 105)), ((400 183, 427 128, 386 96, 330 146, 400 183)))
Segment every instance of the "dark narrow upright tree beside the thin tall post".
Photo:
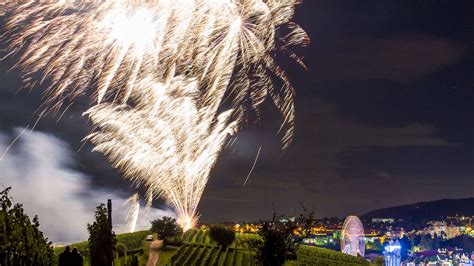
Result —
POLYGON ((112 265, 117 239, 109 224, 107 208, 100 204, 95 211, 95 221, 87 224, 91 265, 112 265))

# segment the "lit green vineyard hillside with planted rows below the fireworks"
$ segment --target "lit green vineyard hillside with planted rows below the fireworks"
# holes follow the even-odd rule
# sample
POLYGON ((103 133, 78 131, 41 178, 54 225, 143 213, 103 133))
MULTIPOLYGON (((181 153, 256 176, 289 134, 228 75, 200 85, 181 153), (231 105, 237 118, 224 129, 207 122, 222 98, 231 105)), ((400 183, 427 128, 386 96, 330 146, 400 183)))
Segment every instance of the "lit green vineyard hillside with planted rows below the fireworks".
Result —
MULTIPOLYGON (((127 251, 128 256, 121 254, 114 265, 127 265, 135 253, 139 265, 146 265, 148 260, 149 243, 145 240, 149 231, 117 235, 117 250, 119 253, 127 251)), ((251 248, 247 245, 249 239, 259 238, 256 234, 236 234, 235 241, 226 249, 222 249, 209 237, 208 231, 191 229, 183 234, 182 245, 168 245, 161 250, 157 265, 211 265, 211 266, 248 266, 256 265, 251 248)), ((77 247, 84 255, 84 265, 89 265, 87 241, 71 244, 77 247)), ((57 256, 64 251, 64 247, 54 249, 57 256)), ((297 260, 287 261, 286 266, 300 265, 327 265, 327 266, 352 266, 370 265, 362 258, 353 257, 341 252, 324 248, 301 245, 297 251, 297 260)))

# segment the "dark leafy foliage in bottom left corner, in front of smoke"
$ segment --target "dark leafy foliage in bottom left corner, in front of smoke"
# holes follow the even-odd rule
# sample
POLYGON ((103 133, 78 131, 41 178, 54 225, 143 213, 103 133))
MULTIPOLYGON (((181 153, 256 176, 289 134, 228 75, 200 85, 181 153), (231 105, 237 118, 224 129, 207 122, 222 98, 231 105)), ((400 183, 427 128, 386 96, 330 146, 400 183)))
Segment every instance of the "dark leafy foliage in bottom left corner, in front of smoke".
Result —
POLYGON ((38 216, 30 221, 22 204, 13 204, 10 187, 0 192, 0 265, 51 265, 51 242, 39 230, 38 216))

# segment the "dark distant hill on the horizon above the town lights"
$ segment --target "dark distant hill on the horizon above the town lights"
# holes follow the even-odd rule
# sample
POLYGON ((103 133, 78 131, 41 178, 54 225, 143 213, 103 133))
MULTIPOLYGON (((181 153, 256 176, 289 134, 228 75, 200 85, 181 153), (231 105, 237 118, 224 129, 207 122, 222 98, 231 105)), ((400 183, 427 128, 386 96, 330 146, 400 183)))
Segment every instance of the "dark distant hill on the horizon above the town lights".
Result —
POLYGON ((436 201, 419 202, 415 204, 375 210, 362 215, 362 219, 395 218, 408 222, 426 222, 446 216, 474 215, 474 198, 442 199, 436 201))

